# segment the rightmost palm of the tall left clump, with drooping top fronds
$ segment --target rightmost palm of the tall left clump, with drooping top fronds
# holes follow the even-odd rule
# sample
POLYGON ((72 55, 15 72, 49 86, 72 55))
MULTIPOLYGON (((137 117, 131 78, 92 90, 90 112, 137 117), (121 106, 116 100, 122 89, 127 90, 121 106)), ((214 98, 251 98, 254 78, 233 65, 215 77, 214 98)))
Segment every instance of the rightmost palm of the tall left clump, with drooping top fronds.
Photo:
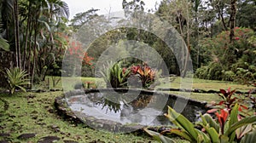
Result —
POLYGON ((32 60, 32 82, 34 79, 34 75, 35 73, 37 73, 38 75, 41 75, 42 79, 44 80, 45 77, 45 73, 48 70, 49 64, 52 63, 52 60, 55 59, 55 54, 54 54, 54 34, 53 31, 55 30, 55 26, 59 26, 60 23, 63 22, 63 18, 64 19, 68 19, 69 17, 69 9, 67 6, 67 3, 62 2, 61 0, 41 0, 37 2, 38 7, 41 9, 41 11, 38 13, 38 17, 36 17, 36 20, 38 20, 39 22, 37 23, 37 29, 35 29, 34 31, 37 31, 34 35, 34 41, 33 41, 33 60, 32 60), (44 35, 46 34, 46 35, 44 35), (49 38, 49 40, 46 40, 50 42, 49 43, 44 43, 45 41, 41 40, 39 41, 38 39, 38 35, 40 35, 41 37, 45 37, 45 38, 49 38), (41 44, 35 44, 35 43, 40 43, 41 44), (43 44, 42 44, 43 43, 43 44), (49 45, 49 46, 48 46, 49 45), (44 55, 44 60, 42 61, 41 58, 37 58, 40 53, 38 46, 40 47, 40 49, 43 50, 44 55), (36 52, 38 51, 38 52, 36 52), (49 62, 46 62, 45 60, 48 59, 49 62), (36 72, 36 66, 38 66, 38 71, 36 72), (44 67, 47 67, 46 69, 44 69, 44 67), (44 69, 44 70, 43 70, 44 69))

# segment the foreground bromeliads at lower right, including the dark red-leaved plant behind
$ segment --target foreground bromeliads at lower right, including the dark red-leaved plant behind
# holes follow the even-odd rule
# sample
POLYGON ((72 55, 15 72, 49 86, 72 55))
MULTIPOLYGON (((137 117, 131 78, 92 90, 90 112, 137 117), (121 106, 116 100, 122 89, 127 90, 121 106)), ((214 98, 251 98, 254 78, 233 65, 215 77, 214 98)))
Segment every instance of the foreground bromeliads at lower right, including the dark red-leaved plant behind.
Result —
POLYGON ((255 140, 255 112, 248 112, 247 106, 238 102, 235 90, 220 90, 222 99, 216 109, 201 115, 201 121, 191 123, 186 117, 169 107, 166 117, 175 125, 162 133, 145 129, 145 131, 162 142, 176 142, 163 134, 176 134, 189 142, 245 142, 255 140), (224 106, 222 106, 224 105, 224 106), (246 114, 241 114, 242 108, 246 114), (215 113, 212 117, 209 113, 215 113), (197 126, 197 129, 195 128, 197 126), (199 128, 199 129, 198 129, 199 128))

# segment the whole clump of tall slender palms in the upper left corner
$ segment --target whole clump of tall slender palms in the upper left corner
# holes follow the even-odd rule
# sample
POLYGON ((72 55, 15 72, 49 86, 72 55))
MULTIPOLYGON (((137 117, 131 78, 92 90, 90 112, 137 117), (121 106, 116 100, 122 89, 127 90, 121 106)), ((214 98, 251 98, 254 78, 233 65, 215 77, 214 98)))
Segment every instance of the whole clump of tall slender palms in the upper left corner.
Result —
POLYGON ((10 47, 15 52, 15 66, 26 69, 33 82, 41 62, 38 59, 40 50, 45 54, 53 53, 54 31, 61 23, 67 22, 64 20, 69 17, 67 3, 61 0, 0 0, 0 9, 0 33, 3 37, 0 38, 0 47, 10 47), (20 32, 21 26, 25 32, 20 32), (20 41, 23 39, 20 36, 25 37, 24 40, 20 41))

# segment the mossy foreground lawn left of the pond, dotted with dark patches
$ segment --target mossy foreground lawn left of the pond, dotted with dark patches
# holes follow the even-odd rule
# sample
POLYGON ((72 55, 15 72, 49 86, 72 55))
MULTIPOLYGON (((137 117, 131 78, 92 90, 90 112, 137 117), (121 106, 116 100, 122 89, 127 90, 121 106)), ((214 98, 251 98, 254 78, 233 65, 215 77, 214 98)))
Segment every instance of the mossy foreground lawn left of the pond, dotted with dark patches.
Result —
MULTIPOLYGON (((44 136, 57 136, 78 142, 157 142, 145 134, 113 134, 90 129, 84 124, 74 124, 56 115, 54 99, 62 92, 0 94, 0 134, 9 134, 1 140, 36 143, 44 136), (4 102, 9 106, 4 109, 4 102), (20 134, 37 134, 36 137, 20 140, 20 134)), ((6 107, 6 106, 5 106, 6 107)), ((185 142, 177 139, 178 142, 185 142)))

